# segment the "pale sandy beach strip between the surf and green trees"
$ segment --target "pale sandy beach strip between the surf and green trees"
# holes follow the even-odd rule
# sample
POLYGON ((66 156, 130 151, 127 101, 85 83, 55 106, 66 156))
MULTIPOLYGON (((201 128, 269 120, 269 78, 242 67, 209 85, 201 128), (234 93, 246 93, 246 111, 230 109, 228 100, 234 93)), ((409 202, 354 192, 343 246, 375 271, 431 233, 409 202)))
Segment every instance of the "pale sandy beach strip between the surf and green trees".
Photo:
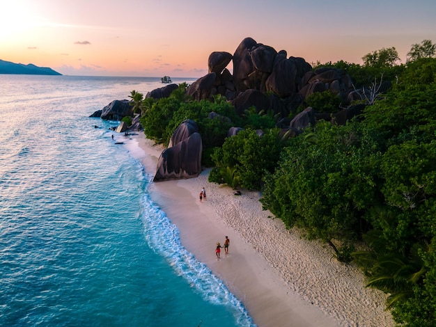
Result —
MULTIPOLYGON (((161 145, 146 136, 123 138, 146 173, 154 175, 161 145)), ((150 183, 150 198, 180 232, 182 245, 223 280, 254 323, 264 326, 394 326, 384 311, 386 295, 364 287, 364 276, 334 259, 319 241, 262 210, 260 193, 208 182, 209 169, 189 180, 150 183), (198 193, 205 187, 207 200, 198 193), (228 255, 215 244, 231 240, 228 255)))

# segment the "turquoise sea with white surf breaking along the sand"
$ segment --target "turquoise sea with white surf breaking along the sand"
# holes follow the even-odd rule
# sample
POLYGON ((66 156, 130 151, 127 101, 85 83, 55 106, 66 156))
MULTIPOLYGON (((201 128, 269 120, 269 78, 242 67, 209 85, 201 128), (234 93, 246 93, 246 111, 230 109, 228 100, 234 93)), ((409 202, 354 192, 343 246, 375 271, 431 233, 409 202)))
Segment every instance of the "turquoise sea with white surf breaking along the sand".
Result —
POLYGON ((88 118, 159 87, 0 74, 0 326, 254 326, 151 202, 118 122, 88 118))

